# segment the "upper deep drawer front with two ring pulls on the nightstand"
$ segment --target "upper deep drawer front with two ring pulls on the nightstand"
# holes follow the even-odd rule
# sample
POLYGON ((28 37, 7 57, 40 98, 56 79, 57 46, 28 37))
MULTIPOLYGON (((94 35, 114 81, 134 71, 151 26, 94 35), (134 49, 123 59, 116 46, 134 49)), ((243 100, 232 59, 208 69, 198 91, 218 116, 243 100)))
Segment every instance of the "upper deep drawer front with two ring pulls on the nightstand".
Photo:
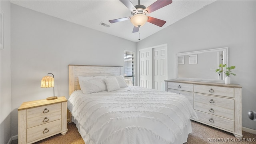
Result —
POLYGON ((61 119, 61 103, 27 110, 27 128, 61 119))

